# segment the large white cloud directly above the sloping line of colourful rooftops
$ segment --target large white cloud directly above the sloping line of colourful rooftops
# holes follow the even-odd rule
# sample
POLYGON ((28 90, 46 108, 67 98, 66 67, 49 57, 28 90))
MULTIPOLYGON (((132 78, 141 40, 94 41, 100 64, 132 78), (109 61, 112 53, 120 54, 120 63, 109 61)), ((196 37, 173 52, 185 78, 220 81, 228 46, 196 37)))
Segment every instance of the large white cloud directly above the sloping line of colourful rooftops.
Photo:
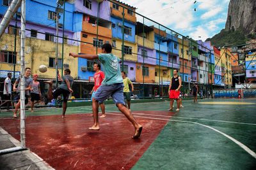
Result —
MULTIPOLYGON (((193 17, 192 1, 177 0, 131 0, 129 4, 138 8, 138 13, 155 20, 163 25, 174 25, 172 29, 189 27, 195 20, 193 17), (163 4, 166 4, 163 6, 163 4), (161 9, 161 10, 159 10, 161 9)), ((138 20, 142 17, 137 15, 138 20)))

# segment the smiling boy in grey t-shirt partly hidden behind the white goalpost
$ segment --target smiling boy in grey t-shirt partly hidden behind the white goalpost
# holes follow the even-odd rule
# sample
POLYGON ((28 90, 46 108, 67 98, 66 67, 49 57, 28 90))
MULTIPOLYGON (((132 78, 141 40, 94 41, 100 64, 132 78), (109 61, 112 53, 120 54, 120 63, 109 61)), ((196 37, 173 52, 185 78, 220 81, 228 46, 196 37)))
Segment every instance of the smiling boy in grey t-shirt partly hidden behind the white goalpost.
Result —
MULTIPOLYGON (((31 69, 29 67, 26 67, 25 69, 25 75, 24 75, 24 80, 25 80, 25 105, 28 104, 28 97, 29 97, 29 90, 31 89, 32 85, 32 79, 29 77, 31 74, 31 69)), ((13 113, 13 117, 17 118, 17 111, 20 108, 20 76, 15 80, 15 83, 13 84, 13 91, 17 92, 17 95, 15 97, 15 101, 17 102, 15 106, 15 111, 13 113), (16 87, 18 84, 18 87, 16 87)))

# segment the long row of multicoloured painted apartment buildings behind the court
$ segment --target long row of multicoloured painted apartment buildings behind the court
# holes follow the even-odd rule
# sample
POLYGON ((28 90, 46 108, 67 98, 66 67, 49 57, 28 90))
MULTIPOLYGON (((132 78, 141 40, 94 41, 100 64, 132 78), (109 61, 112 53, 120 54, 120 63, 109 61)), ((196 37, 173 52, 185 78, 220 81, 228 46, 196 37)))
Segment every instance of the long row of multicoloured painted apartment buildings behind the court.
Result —
MULTIPOLYGON (((8 6, 0 8, 3 18, 8 6)), ((73 59, 68 53, 100 53, 103 43, 111 43, 113 54, 122 59, 120 67, 134 83, 133 94, 137 98, 167 97, 173 69, 182 78, 184 96, 190 95, 195 83, 206 97, 212 96, 212 89, 234 86, 232 61, 239 59, 232 48, 216 48, 210 42, 183 36, 136 13, 129 4, 109 0, 73 1, 57 6, 54 1, 27 1, 25 62, 31 74, 38 74, 41 105, 56 103, 46 100, 48 87, 43 81, 58 80, 57 75, 63 75, 65 69, 70 69, 75 80, 72 99, 90 100, 93 62, 97 61, 73 59), (47 66, 45 73, 39 71, 41 65, 47 66)), ((12 73, 12 83, 20 74, 19 11, 1 37, 0 47, 3 96, 7 73, 12 73)), ((254 56, 248 60, 249 65, 255 64, 254 56)))

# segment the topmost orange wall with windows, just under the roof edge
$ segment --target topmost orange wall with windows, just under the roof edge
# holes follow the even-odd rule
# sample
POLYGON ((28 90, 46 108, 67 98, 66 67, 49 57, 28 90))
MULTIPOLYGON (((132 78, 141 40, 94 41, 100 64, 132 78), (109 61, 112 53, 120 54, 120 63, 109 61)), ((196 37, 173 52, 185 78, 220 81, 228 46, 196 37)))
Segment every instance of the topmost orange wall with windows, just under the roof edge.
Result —
MULTIPOLYGON (((116 4, 120 4, 122 6, 125 6, 126 8, 129 8, 131 11, 135 11, 135 8, 131 8, 131 7, 129 7, 125 4, 123 4, 123 3, 118 3, 116 1, 116 4)), ((114 15, 114 16, 119 17, 119 18, 123 18, 123 15, 122 15, 123 8, 122 8, 122 6, 119 6, 119 9, 116 10, 115 8, 113 8, 113 3, 110 2, 111 15, 114 15)), ((125 18, 125 20, 129 20, 131 22, 136 22, 137 19, 136 19, 135 13, 132 13, 132 15, 130 15, 130 14, 128 14, 127 11, 128 11, 127 9, 124 9, 124 18, 125 18)))

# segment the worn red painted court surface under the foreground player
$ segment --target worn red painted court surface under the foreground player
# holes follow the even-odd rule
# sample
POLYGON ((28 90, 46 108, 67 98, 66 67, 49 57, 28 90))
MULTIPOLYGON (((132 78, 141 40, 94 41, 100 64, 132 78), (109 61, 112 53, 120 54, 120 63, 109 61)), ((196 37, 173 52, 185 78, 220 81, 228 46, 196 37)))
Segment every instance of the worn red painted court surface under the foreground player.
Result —
MULTIPOLYGON (((136 112, 135 112, 136 113, 136 112)), ((171 116, 169 111, 139 113, 171 116)), ((136 118, 143 125, 140 139, 121 113, 100 118, 100 131, 90 131, 88 114, 26 118, 26 146, 55 169, 131 169, 166 125, 166 120, 136 118)), ((150 116, 147 116, 150 117, 150 116)), ((19 139, 19 120, 4 119, 0 126, 19 139)))

